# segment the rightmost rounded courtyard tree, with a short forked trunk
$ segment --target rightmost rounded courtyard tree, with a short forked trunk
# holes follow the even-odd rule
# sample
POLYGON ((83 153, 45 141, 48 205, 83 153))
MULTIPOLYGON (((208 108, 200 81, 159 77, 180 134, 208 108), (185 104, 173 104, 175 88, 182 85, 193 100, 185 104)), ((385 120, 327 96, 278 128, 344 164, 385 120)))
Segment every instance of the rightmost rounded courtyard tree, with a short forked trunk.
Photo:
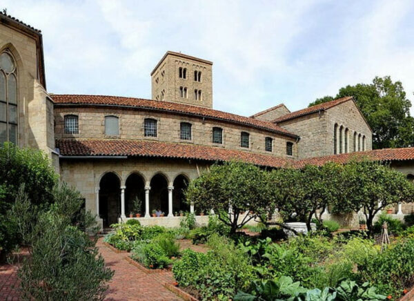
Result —
POLYGON ((380 162, 351 162, 344 166, 341 202, 333 202, 335 212, 350 209, 366 217, 368 231, 373 231, 375 215, 391 204, 413 202, 414 186, 405 175, 380 162))

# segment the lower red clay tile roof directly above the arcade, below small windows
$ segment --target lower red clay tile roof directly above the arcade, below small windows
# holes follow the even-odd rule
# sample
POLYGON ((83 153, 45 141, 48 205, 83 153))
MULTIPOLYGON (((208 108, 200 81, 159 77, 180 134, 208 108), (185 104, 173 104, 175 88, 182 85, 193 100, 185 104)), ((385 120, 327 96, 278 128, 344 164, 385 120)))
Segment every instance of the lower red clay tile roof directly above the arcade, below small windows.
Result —
POLYGON ((251 153, 244 150, 145 140, 57 139, 56 147, 59 148, 61 156, 164 157, 199 159, 210 162, 236 159, 270 167, 288 166, 293 163, 291 159, 251 153))

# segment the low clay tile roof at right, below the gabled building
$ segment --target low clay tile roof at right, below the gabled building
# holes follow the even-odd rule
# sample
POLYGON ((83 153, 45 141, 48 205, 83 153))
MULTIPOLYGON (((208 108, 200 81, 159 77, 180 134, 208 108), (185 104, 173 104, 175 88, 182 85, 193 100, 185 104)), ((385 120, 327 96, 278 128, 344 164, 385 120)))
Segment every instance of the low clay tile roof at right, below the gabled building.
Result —
POLYGON ((295 167, 300 168, 305 165, 324 165, 326 162, 337 162, 344 164, 351 160, 370 159, 373 161, 404 161, 414 159, 414 148, 383 148, 378 150, 366 150, 357 153, 346 153, 340 155, 330 155, 324 157, 313 157, 302 159, 295 162, 295 167))

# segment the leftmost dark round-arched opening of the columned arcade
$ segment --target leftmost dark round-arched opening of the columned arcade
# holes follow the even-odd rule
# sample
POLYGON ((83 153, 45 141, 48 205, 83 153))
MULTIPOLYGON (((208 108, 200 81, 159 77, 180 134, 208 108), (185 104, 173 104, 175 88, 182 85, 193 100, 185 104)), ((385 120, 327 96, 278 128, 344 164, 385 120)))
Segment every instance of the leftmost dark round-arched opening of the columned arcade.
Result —
POLYGON ((99 179, 99 217, 103 226, 118 222, 121 214, 121 179, 113 172, 104 173, 99 179))

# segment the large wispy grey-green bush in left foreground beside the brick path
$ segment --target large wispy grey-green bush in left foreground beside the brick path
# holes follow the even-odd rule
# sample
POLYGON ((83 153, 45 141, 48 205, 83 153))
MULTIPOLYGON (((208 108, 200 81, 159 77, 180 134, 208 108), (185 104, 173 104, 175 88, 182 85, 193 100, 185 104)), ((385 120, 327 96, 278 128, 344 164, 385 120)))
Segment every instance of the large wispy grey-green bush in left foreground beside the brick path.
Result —
POLYGON ((71 188, 57 186, 55 204, 40 210, 23 188, 19 190, 8 217, 31 250, 30 259, 19 268, 23 299, 103 300, 113 272, 106 268, 95 240, 81 230, 90 229, 94 217, 82 214, 77 196, 71 188))

